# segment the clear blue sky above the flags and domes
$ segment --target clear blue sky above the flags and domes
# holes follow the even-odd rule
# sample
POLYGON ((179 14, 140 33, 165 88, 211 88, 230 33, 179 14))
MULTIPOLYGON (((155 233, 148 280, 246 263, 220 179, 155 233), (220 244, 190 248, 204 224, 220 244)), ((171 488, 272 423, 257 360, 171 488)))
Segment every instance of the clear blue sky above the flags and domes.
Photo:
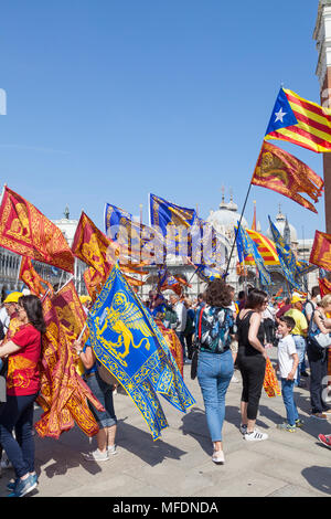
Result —
MULTIPOLYGON (((51 219, 103 227, 105 202, 148 223, 148 193, 243 205, 280 84, 319 103, 318 0, 11 0, 1 4, 1 184, 51 219)), ((322 157, 274 141, 322 176, 322 157)), ((253 187, 266 231, 278 204, 298 237, 318 215, 253 187)))

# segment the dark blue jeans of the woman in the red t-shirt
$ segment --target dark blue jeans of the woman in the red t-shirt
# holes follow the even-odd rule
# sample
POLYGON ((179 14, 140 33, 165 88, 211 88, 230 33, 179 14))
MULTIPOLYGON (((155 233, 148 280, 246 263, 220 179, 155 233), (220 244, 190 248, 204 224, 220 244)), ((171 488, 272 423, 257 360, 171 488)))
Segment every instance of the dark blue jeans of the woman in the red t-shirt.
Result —
POLYGON ((34 472, 33 404, 38 394, 7 395, 1 409, 0 443, 17 477, 34 472), (15 430, 15 438, 12 435, 15 430))

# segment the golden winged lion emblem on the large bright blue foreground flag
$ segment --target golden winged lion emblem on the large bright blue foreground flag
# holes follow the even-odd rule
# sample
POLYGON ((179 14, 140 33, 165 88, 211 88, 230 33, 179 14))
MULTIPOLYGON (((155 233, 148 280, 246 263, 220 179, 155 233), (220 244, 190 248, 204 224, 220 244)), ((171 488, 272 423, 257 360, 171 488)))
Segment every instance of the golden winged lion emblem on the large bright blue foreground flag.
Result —
POLYGON ((96 333, 99 341, 110 349, 111 353, 117 357, 119 362, 127 367, 125 358, 130 352, 130 347, 145 347, 149 350, 149 337, 153 337, 153 332, 149 329, 139 308, 137 308, 127 298, 124 292, 117 292, 113 299, 110 308, 106 308, 102 317, 96 318, 96 333), (113 342, 104 337, 105 331, 110 329, 118 333, 117 342, 113 342), (136 343, 131 330, 140 331, 142 339, 136 343), (120 351, 122 350, 124 351, 120 351))

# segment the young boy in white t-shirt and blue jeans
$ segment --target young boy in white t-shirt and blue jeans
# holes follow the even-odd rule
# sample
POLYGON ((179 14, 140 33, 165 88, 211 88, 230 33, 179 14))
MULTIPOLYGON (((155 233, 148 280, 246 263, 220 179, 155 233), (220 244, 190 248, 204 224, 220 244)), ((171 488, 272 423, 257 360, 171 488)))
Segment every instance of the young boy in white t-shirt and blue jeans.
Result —
POLYGON ((295 433, 297 427, 302 425, 302 421, 299 420, 293 398, 295 377, 299 364, 296 343, 290 335, 295 326, 296 321, 292 317, 282 316, 279 319, 277 330, 280 336, 278 343, 278 370, 281 380, 281 394, 287 414, 287 423, 279 424, 277 427, 290 433, 295 433))

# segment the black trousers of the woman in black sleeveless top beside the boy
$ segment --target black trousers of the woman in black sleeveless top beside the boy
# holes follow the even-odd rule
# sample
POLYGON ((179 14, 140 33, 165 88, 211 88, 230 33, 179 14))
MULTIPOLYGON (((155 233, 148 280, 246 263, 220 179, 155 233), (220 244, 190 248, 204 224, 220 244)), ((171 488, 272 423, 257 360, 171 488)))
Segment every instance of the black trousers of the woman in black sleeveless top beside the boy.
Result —
POLYGON ((248 403, 247 419, 256 420, 265 380, 266 359, 259 353, 248 356, 245 348, 239 347, 237 366, 243 378, 242 402, 248 403))

